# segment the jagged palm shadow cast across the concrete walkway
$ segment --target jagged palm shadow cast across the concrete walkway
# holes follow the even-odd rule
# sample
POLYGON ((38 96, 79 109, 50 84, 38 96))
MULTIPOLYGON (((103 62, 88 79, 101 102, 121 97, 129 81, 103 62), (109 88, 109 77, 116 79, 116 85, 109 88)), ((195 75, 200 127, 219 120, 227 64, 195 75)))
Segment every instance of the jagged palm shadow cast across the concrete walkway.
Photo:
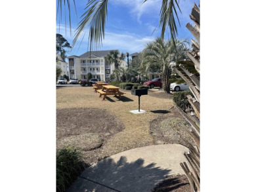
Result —
POLYGON ((152 191, 171 172, 156 166, 156 163, 143 164, 143 159, 127 163, 127 158, 123 156, 119 161, 108 157, 85 169, 68 192, 152 191))

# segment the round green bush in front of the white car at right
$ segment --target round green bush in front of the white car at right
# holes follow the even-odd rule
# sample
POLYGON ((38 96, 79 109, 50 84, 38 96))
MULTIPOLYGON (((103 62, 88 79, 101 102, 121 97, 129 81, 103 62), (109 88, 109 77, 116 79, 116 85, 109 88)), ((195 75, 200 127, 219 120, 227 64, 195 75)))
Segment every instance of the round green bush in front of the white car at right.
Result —
POLYGON ((180 107, 183 111, 185 111, 188 107, 192 107, 190 103, 188 102, 187 95, 193 96, 192 92, 190 90, 184 90, 181 92, 175 92, 173 94, 173 102, 180 107))

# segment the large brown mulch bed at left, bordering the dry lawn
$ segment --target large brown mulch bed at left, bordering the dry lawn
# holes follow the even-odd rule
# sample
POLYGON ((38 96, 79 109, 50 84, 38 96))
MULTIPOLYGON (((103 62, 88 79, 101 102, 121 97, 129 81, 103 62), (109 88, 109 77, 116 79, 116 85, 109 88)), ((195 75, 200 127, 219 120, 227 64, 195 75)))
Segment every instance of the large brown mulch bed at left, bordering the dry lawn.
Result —
POLYGON ((86 164, 103 159, 102 146, 124 125, 104 109, 56 110, 56 148, 72 145, 83 154, 86 164))

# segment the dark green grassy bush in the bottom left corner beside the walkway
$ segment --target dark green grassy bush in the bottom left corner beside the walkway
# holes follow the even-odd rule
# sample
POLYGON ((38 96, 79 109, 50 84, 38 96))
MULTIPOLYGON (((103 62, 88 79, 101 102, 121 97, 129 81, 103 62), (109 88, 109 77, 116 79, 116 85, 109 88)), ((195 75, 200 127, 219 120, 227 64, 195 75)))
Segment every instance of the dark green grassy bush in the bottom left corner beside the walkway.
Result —
POLYGON ((66 191, 83 170, 81 153, 72 147, 56 152, 56 191, 66 191))

